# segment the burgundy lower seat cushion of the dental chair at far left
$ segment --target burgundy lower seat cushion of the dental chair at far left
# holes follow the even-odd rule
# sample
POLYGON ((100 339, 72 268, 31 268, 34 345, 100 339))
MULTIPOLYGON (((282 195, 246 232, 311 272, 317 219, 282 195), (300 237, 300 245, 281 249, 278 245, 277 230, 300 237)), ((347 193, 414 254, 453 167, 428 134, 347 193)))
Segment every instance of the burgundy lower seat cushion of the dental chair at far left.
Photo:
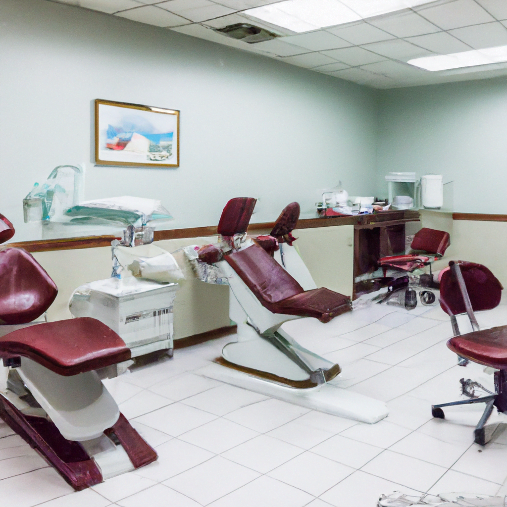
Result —
POLYGON ((0 338, 0 357, 23 356, 59 375, 71 376, 130 359, 130 349, 91 317, 31 325, 0 338))

